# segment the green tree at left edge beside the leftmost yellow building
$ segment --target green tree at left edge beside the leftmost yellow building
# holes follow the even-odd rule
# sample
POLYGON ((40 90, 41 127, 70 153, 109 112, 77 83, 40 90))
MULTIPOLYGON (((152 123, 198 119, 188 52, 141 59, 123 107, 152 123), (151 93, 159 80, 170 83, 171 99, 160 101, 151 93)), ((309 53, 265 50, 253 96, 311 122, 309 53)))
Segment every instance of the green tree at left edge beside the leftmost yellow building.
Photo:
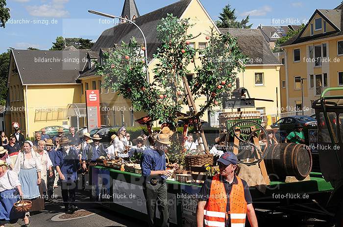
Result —
POLYGON ((6 104, 10 49, 0 54, 0 105, 6 104))

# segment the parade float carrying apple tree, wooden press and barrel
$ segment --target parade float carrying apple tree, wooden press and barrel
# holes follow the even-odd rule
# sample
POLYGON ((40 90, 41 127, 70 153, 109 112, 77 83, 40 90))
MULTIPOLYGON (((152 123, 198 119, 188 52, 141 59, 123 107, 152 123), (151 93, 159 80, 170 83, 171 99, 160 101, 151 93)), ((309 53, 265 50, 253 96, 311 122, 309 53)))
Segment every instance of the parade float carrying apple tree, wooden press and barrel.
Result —
MULTIPOLYGON (((187 34, 189 26, 189 21, 178 21, 171 15, 161 20, 157 26, 160 45, 154 55, 160 63, 156 64, 151 83, 146 78, 147 62, 137 51, 135 39, 106 53, 104 64, 98 65, 98 73, 105 77, 104 86, 130 100, 137 111, 147 114, 137 122, 147 126, 150 144, 156 133, 152 130, 154 122, 159 122, 162 130, 169 126, 174 131, 180 121, 183 124, 183 133, 174 133, 167 152, 167 162, 182 165, 167 179, 171 226, 196 226, 197 194, 202 183, 218 173, 200 121, 215 106, 238 109, 220 115, 217 145, 238 156, 237 175, 250 187, 257 213, 266 217, 287 215, 294 220, 330 219, 333 214, 324 207, 333 188, 321 173, 311 172, 312 156, 308 149, 299 144, 264 143, 261 138, 267 131, 262 126, 260 113, 240 111, 240 108, 254 107, 254 99, 236 81, 237 72, 244 70, 244 56, 237 41, 212 30, 206 37, 208 46, 197 50, 189 45, 194 38, 187 34), (197 58, 201 66, 196 65, 197 58), (214 58, 231 61, 211 61, 214 58), (195 77, 186 77, 189 65, 196 69, 195 77), (200 97, 203 103, 197 107, 195 101, 200 97), (189 107, 187 114, 180 112, 183 106, 189 107), (184 142, 191 125, 196 131, 198 149, 187 154, 184 142)), ((91 173, 89 189, 94 201, 124 215, 146 220, 144 179, 138 157, 130 161, 98 160, 91 173)))

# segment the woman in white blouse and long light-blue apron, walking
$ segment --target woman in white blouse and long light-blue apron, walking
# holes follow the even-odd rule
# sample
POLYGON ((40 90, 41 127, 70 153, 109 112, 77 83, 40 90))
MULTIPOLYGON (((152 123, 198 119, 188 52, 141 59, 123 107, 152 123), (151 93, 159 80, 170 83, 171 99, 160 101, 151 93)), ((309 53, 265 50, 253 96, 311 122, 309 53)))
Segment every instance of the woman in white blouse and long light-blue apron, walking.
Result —
POLYGON ((31 141, 24 142, 23 151, 18 154, 14 164, 14 171, 22 184, 24 199, 32 202, 30 211, 38 211, 44 209, 44 200, 41 196, 43 192, 39 190, 42 181, 42 161, 41 156, 32 147, 31 141))

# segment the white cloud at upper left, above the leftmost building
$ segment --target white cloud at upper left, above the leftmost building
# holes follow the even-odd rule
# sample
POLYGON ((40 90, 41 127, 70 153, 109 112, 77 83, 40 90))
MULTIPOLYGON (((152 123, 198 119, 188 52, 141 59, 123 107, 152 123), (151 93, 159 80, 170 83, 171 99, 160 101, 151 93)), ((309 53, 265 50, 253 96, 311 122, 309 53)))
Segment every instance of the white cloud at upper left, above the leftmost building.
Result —
POLYGON ((34 5, 27 6, 26 10, 32 16, 37 17, 67 17, 69 12, 63 9, 63 4, 43 4, 43 5, 34 5))

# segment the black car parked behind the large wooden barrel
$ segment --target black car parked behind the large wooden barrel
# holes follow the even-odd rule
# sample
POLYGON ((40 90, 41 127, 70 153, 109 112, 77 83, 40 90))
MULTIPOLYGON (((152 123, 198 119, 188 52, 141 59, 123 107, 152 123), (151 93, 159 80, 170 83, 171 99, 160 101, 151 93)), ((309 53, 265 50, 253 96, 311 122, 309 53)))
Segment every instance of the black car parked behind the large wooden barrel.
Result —
POLYGON ((274 124, 271 124, 271 128, 279 128, 279 131, 275 133, 275 137, 278 141, 284 142, 287 135, 292 132, 297 124, 304 126, 303 131, 305 135, 305 141, 308 141, 308 129, 317 128, 317 121, 309 116, 290 116, 279 119, 274 124))

